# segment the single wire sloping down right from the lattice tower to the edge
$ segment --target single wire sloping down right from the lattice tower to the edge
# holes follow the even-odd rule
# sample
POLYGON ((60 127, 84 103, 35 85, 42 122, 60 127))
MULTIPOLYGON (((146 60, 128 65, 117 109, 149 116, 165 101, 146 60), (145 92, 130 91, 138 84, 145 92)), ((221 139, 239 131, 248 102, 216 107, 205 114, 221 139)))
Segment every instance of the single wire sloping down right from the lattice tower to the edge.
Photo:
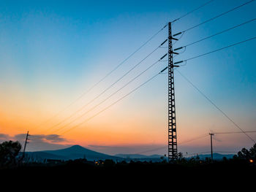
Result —
MULTIPOLYGON (((178 69, 176 69, 176 71, 181 74, 181 72, 178 71, 178 69)), ((246 134, 246 132, 240 127, 238 126, 238 124, 232 120, 223 110, 221 110, 219 107, 217 107, 216 104, 214 104, 213 101, 211 101, 211 99, 208 98, 208 96, 206 96, 206 94, 204 94, 202 91, 200 91, 199 88, 197 88, 194 83, 192 83, 187 77, 184 76, 184 74, 181 74, 181 77, 184 77, 185 80, 187 80, 187 82, 189 82, 190 85, 192 85, 193 88, 195 88, 204 98, 206 98, 217 110, 219 110, 219 112, 222 113, 222 115, 224 115, 228 120, 230 120, 231 123, 233 123, 237 128, 239 128, 245 135, 246 137, 248 137, 249 139, 252 140, 252 142, 255 142, 254 139, 252 139, 252 137, 249 137, 248 134, 246 134)))

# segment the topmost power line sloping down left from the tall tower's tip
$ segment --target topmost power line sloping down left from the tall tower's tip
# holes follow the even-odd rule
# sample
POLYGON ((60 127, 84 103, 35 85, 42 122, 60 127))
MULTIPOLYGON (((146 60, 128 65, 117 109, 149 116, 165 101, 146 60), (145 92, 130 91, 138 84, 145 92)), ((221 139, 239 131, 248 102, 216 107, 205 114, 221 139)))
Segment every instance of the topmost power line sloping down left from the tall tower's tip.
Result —
POLYGON ((91 88, 89 88, 87 91, 83 92, 77 99, 75 99, 75 101, 72 101, 72 103, 70 103, 69 105, 67 105, 67 107, 64 107, 62 110, 60 110, 59 112, 56 113, 56 115, 53 115, 51 118, 49 118, 48 120, 45 120, 44 122, 40 123, 36 128, 39 128, 40 126, 42 126, 42 124, 45 124, 47 122, 49 122, 50 120, 52 120, 53 118, 56 118, 59 114, 61 114, 61 112, 64 112, 65 110, 67 110, 70 106, 72 106, 73 104, 75 104, 78 100, 80 100, 83 96, 85 96, 86 94, 88 94, 92 89, 94 89, 97 85, 99 85, 100 82, 102 82, 103 80, 105 80, 105 78, 107 78, 110 74, 112 74, 113 72, 116 71, 116 69, 118 69, 121 65, 123 65, 129 58, 132 57, 132 55, 135 55, 135 53, 137 53, 142 47, 144 47, 145 45, 148 44, 148 42, 150 42, 152 39, 154 39, 154 37, 156 37, 165 27, 167 26, 167 24, 165 26, 163 26, 159 31, 157 31, 157 33, 153 34, 146 42, 143 43, 143 45, 140 45, 140 47, 138 47, 137 50, 135 50, 133 53, 131 53, 127 58, 125 58, 123 61, 121 61, 120 64, 118 64, 116 67, 114 67, 110 72, 108 72, 108 74, 106 74, 104 77, 102 77, 98 82, 96 82, 94 85, 91 86, 91 88))

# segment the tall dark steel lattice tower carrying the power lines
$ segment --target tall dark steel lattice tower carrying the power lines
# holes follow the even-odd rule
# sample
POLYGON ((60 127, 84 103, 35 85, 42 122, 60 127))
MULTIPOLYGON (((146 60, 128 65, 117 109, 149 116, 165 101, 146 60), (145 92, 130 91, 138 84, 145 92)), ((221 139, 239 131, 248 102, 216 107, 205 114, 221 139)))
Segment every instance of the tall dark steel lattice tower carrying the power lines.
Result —
MULTIPOLYGON (((177 133, 176 133, 176 109, 174 94, 174 67, 173 65, 173 40, 171 22, 168 23, 168 161, 178 158, 177 133)), ((177 62, 180 63, 180 62, 177 62)))

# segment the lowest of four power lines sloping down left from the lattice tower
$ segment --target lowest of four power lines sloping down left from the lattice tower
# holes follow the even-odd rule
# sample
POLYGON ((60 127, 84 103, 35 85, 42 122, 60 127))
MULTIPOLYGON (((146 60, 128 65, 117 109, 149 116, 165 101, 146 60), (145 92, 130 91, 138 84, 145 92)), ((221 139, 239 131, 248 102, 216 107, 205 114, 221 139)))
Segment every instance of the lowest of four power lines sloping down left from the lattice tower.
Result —
MULTIPOLYGON (((165 68, 167 69, 167 67, 165 68)), ((112 107, 114 104, 118 103, 119 101, 121 101, 122 99, 126 98, 127 96, 129 96, 131 93, 135 92, 138 90, 138 88, 141 88, 143 85, 145 85, 146 83, 150 82, 151 80, 153 80, 155 77, 157 77, 159 74, 161 74, 162 72, 165 71, 165 69, 162 69, 161 72, 155 74, 153 77, 149 78, 148 80, 146 80, 146 82, 143 82, 142 84, 140 84, 137 88, 133 89, 132 91, 130 91, 129 93, 127 93, 126 95, 122 96, 120 99, 118 99, 117 101, 113 102, 112 104, 110 104, 108 107, 105 107, 103 110, 97 112, 95 115, 91 116, 90 118, 84 120, 82 123, 79 123, 77 126, 74 126, 72 128, 69 128, 67 131, 64 131, 62 134, 66 134, 68 131, 71 131, 73 128, 78 128, 78 126, 82 125, 83 123, 86 123, 87 121, 91 120, 92 118, 95 118, 97 115, 99 115, 100 113, 104 112, 105 110, 108 110, 108 108, 112 107)))

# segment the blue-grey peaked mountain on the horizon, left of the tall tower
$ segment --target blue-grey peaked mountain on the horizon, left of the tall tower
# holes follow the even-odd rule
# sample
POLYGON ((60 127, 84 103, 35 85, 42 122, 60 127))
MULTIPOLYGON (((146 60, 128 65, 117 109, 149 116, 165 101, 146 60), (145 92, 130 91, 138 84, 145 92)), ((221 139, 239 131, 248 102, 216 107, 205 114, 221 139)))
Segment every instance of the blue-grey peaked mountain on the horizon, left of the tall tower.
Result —
POLYGON ((121 160, 116 156, 106 155, 104 153, 98 153, 94 150, 86 149, 80 145, 74 145, 62 150, 45 150, 37 152, 28 152, 30 158, 37 159, 37 161, 43 161, 45 159, 56 160, 74 160, 78 158, 86 158, 89 161, 112 159, 114 161, 121 160))

